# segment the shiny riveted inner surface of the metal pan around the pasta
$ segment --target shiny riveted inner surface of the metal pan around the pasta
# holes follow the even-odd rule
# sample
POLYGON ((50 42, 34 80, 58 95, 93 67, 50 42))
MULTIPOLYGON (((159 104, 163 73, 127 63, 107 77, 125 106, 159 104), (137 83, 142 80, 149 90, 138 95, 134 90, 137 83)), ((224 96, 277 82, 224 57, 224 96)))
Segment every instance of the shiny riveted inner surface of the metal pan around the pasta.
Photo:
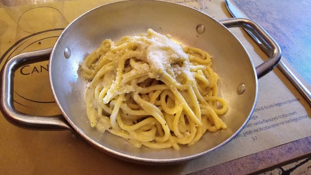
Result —
POLYGON ((215 19, 194 9, 171 2, 130 0, 93 9, 74 20, 56 42, 50 59, 53 93, 71 126, 95 147, 118 157, 144 162, 176 162, 199 157, 223 146, 249 119, 257 97, 254 65, 239 40, 215 19), (205 31, 199 34, 198 25, 205 31), (222 116, 227 129, 206 133, 201 140, 181 150, 134 148, 127 141, 90 127, 86 117, 86 82, 79 75, 79 64, 105 38, 119 40, 124 35, 139 35, 152 28, 170 34, 183 46, 197 47, 213 56, 212 68, 218 73, 219 95, 229 105, 222 116), (70 50, 70 57, 64 55, 70 50), (246 87, 242 94, 237 87, 246 87))

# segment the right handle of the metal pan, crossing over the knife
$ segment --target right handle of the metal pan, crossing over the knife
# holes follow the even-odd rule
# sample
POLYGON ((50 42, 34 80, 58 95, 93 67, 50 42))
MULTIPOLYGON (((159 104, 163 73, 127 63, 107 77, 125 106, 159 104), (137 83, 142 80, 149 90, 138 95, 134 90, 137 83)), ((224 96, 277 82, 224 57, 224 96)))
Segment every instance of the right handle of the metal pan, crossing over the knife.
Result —
POLYGON ((256 67, 257 77, 261 78, 273 70, 281 59, 281 49, 276 41, 255 21, 246 18, 229 18, 220 20, 227 28, 241 27, 255 35, 260 42, 259 47, 269 56, 269 59, 256 67))

